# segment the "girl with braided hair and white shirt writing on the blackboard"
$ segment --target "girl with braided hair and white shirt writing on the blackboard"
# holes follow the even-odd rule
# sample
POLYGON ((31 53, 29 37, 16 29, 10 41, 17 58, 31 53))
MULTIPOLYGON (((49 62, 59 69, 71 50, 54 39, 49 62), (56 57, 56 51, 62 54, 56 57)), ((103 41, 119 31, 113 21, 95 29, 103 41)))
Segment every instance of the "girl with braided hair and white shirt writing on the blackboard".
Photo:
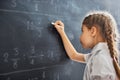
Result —
POLYGON ((120 80, 117 26, 110 13, 95 11, 84 18, 80 42, 83 48, 92 49, 89 54, 78 53, 74 49, 61 21, 56 21, 54 27, 60 34, 70 59, 86 63, 83 80, 120 80))

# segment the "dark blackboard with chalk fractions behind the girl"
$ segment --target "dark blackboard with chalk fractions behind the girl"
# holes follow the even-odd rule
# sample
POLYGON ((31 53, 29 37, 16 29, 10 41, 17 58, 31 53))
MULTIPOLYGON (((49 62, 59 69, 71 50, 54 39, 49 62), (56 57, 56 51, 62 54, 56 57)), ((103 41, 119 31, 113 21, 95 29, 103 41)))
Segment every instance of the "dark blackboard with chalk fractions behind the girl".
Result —
POLYGON ((82 80, 85 64, 71 61, 51 22, 62 20, 79 52, 81 22, 107 10, 120 25, 119 0, 0 0, 0 80, 82 80))

